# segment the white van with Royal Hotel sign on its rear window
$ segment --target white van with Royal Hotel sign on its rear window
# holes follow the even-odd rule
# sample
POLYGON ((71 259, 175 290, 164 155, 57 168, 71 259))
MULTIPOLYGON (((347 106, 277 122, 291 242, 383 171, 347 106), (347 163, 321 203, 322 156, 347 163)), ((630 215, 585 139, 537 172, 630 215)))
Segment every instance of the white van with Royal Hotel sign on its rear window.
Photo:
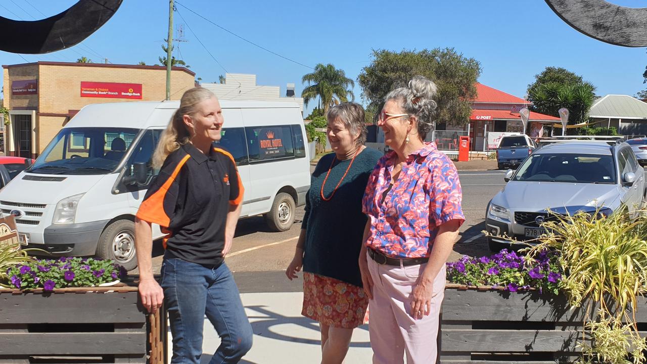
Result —
MULTIPOLYGON (((298 104, 221 101, 220 143, 245 187, 241 217, 265 215, 285 231, 310 187, 310 158, 298 104)), ((134 216, 151 179, 151 155, 179 102, 85 106, 34 165, 0 190, 27 247, 56 256, 96 255, 137 266, 134 216)), ((153 238, 164 236, 158 225, 153 238)))

